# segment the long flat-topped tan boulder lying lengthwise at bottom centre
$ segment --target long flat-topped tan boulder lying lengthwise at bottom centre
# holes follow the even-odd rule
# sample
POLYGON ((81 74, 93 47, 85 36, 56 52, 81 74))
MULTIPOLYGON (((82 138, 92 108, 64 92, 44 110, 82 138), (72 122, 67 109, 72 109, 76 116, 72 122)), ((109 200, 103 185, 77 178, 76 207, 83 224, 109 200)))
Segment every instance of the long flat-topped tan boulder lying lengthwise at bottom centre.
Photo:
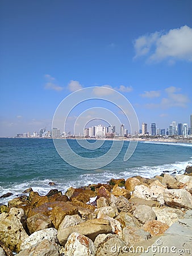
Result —
POLYGON ((76 226, 70 226, 68 228, 61 227, 58 230, 58 239, 60 244, 65 245, 69 235, 73 232, 84 234, 84 236, 89 237, 92 241, 94 241, 98 234, 111 233, 112 228, 110 221, 103 220, 101 218, 87 220, 76 226))

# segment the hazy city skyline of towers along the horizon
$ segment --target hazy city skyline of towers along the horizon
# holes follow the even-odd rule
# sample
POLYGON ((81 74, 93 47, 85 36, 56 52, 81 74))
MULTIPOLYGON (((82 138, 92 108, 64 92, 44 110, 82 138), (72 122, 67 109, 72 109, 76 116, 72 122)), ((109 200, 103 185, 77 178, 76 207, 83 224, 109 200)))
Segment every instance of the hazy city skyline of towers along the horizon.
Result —
POLYGON ((105 125, 93 125, 91 127, 84 127, 84 130, 81 133, 73 133, 73 131, 62 131, 59 127, 53 127, 52 129, 48 129, 45 127, 37 131, 31 132, 24 132, 24 133, 17 133, 15 137, 34 137, 34 138, 41 138, 46 135, 46 137, 102 137, 103 134, 107 134, 111 137, 111 134, 118 135, 120 137, 128 134, 137 135, 191 135, 192 127, 192 114, 190 115, 190 123, 177 123, 176 121, 172 121, 168 127, 159 128, 156 123, 151 123, 150 127, 148 127, 147 123, 141 123, 141 129, 131 133, 124 124, 120 125, 120 129, 116 126, 105 126, 105 125), (98 134, 98 135, 96 135, 98 134))

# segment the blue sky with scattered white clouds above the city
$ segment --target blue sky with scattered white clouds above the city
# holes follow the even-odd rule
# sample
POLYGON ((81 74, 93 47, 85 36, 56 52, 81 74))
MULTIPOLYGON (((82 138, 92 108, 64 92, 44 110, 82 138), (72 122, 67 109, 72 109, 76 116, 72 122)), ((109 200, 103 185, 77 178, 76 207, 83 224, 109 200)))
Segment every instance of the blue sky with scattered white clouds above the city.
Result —
POLYGON ((190 0, 2 0, 0 32, 0 137, 50 130, 66 97, 84 89, 89 98, 90 87, 92 98, 104 100, 78 103, 66 130, 82 112, 107 120, 97 107, 126 123, 116 93, 130 102, 140 128, 142 122, 160 129, 172 121, 190 125, 190 0))

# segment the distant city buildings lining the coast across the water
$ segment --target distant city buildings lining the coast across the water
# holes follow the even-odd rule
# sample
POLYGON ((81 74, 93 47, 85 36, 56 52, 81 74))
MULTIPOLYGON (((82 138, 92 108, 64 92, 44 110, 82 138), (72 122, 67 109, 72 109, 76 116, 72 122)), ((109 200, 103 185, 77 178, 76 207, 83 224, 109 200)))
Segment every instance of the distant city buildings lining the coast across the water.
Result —
POLYGON ((72 134, 70 131, 63 131, 61 133, 60 128, 52 128, 51 131, 47 131, 46 127, 40 129, 39 133, 18 133, 16 138, 74 138, 74 137, 85 137, 85 138, 114 138, 114 137, 191 137, 192 135, 192 114, 190 115, 190 126, 187 123, 176 123, 173 121, 170 123, 167 129, 157 128, 156 123, 151 123, 148 130, 147 123, 141 124, 141 130, 135 131, 134 133, 129 132, 124 124, 119 127, 120 133, 116 131, 115 126, 103 126, 96 125, 91 127, 85 127, 82 134, 72 134))

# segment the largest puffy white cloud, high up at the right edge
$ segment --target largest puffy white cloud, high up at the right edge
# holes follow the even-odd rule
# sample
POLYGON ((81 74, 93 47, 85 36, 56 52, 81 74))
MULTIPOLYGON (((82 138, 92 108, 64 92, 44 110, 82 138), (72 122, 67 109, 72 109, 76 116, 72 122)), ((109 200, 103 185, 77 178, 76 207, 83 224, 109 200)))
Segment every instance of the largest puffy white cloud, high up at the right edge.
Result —
POLYGON ((136 57, 147 55, 148 61, 169 63, 176 60, 192 61, 192 28, 182 26, 168 32, 155 32, 140 36, 134 42, 136 57))

